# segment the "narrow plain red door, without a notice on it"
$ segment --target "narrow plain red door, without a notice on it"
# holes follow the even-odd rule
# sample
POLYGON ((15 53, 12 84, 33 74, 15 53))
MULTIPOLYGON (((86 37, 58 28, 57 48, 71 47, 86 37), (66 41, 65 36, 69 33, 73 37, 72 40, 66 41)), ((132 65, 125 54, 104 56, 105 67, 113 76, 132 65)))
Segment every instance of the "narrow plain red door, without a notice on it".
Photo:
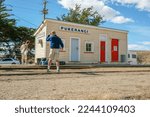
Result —
POLYGON ((100 62, 105 62, 105 41, 100 42, 100 62))

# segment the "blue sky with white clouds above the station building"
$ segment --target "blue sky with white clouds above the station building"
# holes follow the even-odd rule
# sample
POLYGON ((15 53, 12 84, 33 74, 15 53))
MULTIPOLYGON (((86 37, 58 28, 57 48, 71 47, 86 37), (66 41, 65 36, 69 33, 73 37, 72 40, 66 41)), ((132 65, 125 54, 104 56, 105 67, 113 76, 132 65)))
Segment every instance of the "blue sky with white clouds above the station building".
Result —
MULTIPOLYGON (((150 50, 150 0, 47 0, 47 18, 66 14, 75 4, 81 8, 93 6, 104 16, 103 27, 128 30, 129 50, 150 50)), ((43 16, 43 0, 5 0, 18 26, 37 28, 43 16)))

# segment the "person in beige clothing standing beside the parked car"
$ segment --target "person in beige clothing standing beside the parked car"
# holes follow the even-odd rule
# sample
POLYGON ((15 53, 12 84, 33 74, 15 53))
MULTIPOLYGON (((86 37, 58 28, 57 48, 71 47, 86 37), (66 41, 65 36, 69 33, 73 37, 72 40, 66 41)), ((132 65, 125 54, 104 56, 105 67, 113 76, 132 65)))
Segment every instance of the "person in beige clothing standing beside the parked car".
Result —
POLYGON ((26 42, 23 42, 23 44, 20 47, 20 51, 21 51, 21 63, 22 64, 27 64, 27 54, 28 54, 28 45, 29 45, 29 40, 27 40, 26 42))

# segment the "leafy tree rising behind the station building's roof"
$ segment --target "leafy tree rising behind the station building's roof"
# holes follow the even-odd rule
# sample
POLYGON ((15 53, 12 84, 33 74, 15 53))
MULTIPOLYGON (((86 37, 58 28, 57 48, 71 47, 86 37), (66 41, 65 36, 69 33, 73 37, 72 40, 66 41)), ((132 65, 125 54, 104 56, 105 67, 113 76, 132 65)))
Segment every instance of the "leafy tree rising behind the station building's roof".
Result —
POLYGON ((98 26, 103 22, 103 18, 98 14, 97 11, 93 11, 93 7, 84 8, 81 10, 80 5, 76 5, 75 9, 69 9, 67 15, 63 14, 58 20, 68 21, 74 23, 81 23, 87 25, 98 26))

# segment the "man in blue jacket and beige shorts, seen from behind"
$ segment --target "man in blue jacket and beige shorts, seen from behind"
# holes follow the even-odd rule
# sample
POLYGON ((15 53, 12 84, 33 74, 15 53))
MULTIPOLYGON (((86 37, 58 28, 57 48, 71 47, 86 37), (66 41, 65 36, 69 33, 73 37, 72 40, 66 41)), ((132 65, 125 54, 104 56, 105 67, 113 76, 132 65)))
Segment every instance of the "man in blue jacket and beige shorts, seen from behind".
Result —
POLYGON ((64 44, 61 40, 56 35, 55 31, 52 31, 50 35, 47 36, 46 41, 50 42, 50 53, 49 53, 49 60, 48 60, 48 66, 47 66, 47 72, 50 72, 50 67, 52 64, 52 60, 56 60, 56 68, 57 68, 57 73, 60 72, 59 68, 59 49, 63 50, 64 44))

